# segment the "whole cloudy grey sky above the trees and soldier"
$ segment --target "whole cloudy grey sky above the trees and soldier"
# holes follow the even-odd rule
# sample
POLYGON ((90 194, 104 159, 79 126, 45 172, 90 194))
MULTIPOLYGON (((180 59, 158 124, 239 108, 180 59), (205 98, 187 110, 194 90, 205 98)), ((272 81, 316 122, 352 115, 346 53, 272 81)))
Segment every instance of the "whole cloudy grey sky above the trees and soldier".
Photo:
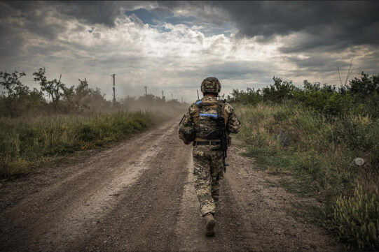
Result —
POLYGON ((116 93, 196 98, 205 77, 231 89, 266 87, 273 76, 339 84, 379 73, 378 1, 3 1, 0 71, 25 71, 71 86, 87 78, 116 93))

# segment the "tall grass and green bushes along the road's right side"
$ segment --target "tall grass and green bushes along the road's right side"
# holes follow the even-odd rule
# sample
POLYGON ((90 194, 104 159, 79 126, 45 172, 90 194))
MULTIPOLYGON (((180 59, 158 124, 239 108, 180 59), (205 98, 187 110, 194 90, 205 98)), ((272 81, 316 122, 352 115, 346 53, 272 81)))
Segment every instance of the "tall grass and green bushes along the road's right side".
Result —
POLYGON ((246 155, 282 174, 290 192, 322 202, 308 214, 348 248, 378 251, 379 75, 361 73, 341 87, 273 81, 228 96, 246 155))

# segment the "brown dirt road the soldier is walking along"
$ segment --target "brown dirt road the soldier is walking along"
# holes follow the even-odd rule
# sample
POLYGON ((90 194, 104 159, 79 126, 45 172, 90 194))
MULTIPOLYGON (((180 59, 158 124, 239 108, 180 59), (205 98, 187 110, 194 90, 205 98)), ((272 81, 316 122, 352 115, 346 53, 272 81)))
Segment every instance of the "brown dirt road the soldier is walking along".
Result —
POLYGON ((0 251, 338 251, 289 214, 300 200, 228 151, 216 236, 204 236, 179 119, 76 165, 1 182, 0 251))

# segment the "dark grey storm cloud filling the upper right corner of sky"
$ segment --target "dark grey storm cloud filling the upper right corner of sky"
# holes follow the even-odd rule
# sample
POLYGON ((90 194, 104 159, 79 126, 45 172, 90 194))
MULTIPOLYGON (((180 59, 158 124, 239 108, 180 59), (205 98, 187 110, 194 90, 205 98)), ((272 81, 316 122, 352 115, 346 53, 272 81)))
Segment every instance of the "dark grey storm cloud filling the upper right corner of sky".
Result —
MULTIPOLYGON (((188 2, 159 2, 165 8, 190 8, 188 2)), ((191 2, 202 11, 199 18, 214 24, 233 22, 237 37, 261 42, 277 35, 306 34, 282 52, 301 52, 318 47, 340 50, 350 45, 379 45, 378 1, 210 1, 191 2), (212 15, 222 10, 226 15, 212 15), (207 15, 209 13, 209 15, 207 15)))

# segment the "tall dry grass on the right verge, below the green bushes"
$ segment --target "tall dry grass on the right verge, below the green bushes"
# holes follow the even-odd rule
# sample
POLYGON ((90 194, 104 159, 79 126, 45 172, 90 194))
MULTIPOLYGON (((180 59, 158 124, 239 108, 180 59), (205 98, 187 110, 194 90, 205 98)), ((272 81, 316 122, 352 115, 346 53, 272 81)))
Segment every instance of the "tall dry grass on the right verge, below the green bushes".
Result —
POLYGON ((379 119, 325 117, 291 101, 233 106, 242 122, 237 138, 247 147, 244 155, 254 157, 259 169, 290 174, 280 181, 289 192, 324 203, 322 209, 297 207, 297 214, 315 214, 313 221, 347 247, 379 249, 379 119), (365 165, 354 165, 356 157, 365 165), (352 205, 355 212, 345 207, 352 205))

